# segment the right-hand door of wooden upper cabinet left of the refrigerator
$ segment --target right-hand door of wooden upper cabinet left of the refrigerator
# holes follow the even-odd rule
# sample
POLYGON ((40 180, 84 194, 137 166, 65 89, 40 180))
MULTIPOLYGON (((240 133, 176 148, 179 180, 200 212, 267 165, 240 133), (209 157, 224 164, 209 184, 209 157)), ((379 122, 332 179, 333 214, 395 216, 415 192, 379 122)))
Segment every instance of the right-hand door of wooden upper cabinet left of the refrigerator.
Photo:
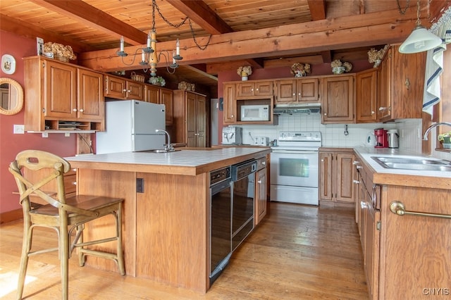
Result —
POLYGON ((91 70, 78 69, 78 118, 103 120, 105 113, 104 75, 91 70))

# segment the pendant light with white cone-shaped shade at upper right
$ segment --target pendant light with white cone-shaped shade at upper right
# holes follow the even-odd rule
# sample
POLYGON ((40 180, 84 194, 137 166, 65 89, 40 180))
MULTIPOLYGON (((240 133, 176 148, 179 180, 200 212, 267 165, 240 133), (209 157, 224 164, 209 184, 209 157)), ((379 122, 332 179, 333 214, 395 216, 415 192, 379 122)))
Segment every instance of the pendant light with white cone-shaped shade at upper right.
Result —
POLYGON ((442 44, 442 39, 429 32, 421 25, 420 20, 420 0, 416 2, 416 27, 412 33, 400 46, 400 53, 414 54, 418 52, 428 51, 442 44))

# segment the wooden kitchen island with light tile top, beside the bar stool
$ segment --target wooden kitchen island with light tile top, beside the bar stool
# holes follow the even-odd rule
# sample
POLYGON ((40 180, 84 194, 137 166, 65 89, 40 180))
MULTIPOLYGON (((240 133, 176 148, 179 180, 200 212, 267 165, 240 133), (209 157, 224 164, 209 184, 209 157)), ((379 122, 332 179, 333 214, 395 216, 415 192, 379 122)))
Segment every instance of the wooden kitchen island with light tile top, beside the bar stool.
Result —
MULTIPOLYGON (((127 275, 205 293, 209 289, 209 172, 261 158, 262 148, 123 152, 66 158, 77 168, 77 193, 125 199, 123 249, 127 275)), ((104 237, 100 219, 88 239, 104 237)), ((87 230, 89 232, 89 230, 87 230)), ((106 232, 106 230, 105 230, 106 232)), ((109 245, 113 251, 114 244, 109 245)), ((117 272, 110 260, 87 264, 117 272)))

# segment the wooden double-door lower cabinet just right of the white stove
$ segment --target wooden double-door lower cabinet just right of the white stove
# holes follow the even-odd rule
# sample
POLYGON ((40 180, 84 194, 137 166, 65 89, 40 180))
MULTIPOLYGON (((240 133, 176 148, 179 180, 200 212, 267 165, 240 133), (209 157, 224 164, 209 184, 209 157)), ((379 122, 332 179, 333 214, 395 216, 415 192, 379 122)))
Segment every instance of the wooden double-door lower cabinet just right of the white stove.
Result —
POLYGON ((321 204, 354 204, 354 151, 320 149, 319 201, 321 204))

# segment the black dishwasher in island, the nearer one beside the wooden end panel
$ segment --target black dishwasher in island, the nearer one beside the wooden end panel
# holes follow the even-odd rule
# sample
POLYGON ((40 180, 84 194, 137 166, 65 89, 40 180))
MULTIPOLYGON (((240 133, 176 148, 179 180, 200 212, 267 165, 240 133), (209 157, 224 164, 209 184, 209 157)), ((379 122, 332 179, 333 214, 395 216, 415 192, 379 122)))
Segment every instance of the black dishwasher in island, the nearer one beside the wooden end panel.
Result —
POLYGON ((230 167, 210 172, 210 285, 232 255, 232 180, 230 167))

